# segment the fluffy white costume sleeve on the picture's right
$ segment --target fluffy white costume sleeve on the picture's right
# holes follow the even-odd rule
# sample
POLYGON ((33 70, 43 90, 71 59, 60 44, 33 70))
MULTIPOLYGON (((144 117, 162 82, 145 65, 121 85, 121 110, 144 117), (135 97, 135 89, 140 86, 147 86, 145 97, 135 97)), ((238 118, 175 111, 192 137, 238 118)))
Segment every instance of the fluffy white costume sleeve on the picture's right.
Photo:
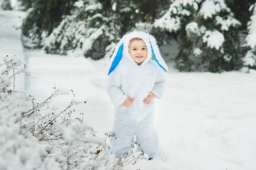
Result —
POLYGON ((155 94, 157 98, 162 98, 162 94, 164 91, 164 82, 165 82, 164 73, 162 72, 162 70, 160 70, 152 90, 152 93, 155 94))

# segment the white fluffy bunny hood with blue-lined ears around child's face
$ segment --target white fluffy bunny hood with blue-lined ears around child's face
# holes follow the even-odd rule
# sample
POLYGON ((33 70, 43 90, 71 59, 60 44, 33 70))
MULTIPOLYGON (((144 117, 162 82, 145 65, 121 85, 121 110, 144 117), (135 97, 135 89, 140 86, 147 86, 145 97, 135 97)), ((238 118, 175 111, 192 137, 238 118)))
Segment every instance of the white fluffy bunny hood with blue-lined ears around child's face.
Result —
POLYGON ((130 40, 134 38, 139 38, 143 40, 148 49, 147 58, 141 63, 141 65, 143 65, 144 63, 147 63, 148 60, 150 60, 153 56, 155 58, 155 61, 159 65, 159 67, 161 67, 162 69, 164 69, 165 72, 167 72, 168 67, 160 54, 155 37, 143 31, 133 31, 124 35, 121 38, 121 40, 117 43, 117 47, 115 48, 115 51, 112 57, 110 58, 110 63, 108 65, 108 70, 109 70, 108 75, 112 71, 114 71, 114 69, 120 63, 123 56, 127 57, 126 59, 128 60, 132 60, 128 47, 129 47, 130 40))

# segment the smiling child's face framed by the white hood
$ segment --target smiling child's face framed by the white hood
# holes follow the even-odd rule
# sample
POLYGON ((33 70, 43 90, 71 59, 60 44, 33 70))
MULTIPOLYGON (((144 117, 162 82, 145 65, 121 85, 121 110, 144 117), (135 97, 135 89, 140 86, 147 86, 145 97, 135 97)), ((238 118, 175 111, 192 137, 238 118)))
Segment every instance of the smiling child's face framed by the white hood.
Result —
POLYGON ((129 44, 129 53, 137 65, 141 65, 141 63, 147 58, 148 49, 143 40, 132 39, 129 44))

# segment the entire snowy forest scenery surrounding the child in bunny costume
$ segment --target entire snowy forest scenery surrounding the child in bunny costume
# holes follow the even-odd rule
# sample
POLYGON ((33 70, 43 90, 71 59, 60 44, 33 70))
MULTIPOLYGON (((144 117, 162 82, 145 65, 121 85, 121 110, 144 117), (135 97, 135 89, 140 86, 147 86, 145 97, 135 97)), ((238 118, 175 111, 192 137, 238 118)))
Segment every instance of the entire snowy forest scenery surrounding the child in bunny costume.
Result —
POLYGON ((0 170, 255 170, 255 0, 0 0, 0 170), (110 152, 107 67, 146 31, 169 71, 153 160, 110 152))

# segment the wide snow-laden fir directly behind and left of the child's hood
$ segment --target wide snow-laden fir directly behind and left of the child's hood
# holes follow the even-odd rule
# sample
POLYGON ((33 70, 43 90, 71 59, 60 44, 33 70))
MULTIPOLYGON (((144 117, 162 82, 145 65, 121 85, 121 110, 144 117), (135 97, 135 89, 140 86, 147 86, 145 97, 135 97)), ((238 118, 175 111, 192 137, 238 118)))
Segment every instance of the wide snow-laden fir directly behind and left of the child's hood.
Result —
POLYGON ((41 45, 47 53, 110 57, 115 42, 135 27, 138 12, 138 5, 129 0, 79 0, 41 45))

